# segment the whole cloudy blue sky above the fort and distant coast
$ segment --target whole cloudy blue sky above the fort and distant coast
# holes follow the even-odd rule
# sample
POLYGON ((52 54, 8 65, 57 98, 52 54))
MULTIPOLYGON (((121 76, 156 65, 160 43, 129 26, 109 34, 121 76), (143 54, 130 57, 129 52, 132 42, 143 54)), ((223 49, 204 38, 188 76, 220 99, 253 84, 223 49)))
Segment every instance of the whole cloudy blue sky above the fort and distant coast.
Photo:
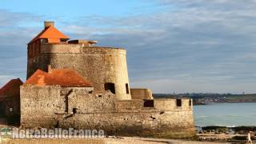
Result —
POLYGON ((26 79, 43 21, 124 47, 130 83, 154 93, 256 93, 255 0, 0 0, 0 86, 26 79))

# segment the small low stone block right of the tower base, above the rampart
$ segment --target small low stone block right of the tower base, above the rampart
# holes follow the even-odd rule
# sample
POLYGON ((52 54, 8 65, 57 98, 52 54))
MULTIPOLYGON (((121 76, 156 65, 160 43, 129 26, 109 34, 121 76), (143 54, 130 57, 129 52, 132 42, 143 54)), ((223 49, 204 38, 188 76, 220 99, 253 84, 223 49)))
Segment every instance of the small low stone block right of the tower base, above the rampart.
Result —
POLYGON ((153 99, 149 89, 130 89, 130 94, 132 99, 153 99))

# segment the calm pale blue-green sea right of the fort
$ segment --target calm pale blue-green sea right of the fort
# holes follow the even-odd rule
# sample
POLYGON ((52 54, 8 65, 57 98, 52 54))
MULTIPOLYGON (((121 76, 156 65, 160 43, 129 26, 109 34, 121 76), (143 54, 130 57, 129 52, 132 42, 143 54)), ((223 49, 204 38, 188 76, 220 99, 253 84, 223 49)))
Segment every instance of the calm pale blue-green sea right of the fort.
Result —
POLYGON ((195 126, 256 126, 256 103, 194 106, 195 126))

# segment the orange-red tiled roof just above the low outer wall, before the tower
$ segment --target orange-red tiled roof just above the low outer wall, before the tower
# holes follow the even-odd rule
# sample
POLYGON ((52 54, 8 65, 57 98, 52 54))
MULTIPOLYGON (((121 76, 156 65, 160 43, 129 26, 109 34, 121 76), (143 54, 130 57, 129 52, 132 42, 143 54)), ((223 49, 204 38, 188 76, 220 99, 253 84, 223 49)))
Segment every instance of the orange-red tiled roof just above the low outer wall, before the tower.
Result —
POLYGON ((53 69, 50 73, 37 70, 25 84, 34 86, 92 87, 78 72, 69 69, 53 69))

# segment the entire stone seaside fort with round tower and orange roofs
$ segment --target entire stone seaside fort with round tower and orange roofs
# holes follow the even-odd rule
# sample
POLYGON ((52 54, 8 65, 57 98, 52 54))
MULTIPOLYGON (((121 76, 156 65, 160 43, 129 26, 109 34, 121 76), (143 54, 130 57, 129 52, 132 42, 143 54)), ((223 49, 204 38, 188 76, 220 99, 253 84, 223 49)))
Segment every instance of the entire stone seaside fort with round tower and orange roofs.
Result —
POLYGON ((101 129, 110 135, 159 138, 194 136, 190 98, 154 99, 151 90, 130 88, 126 50, 96 44, 70 40, 54 22, 45 22, 45 28, 27 46, 26 82, 14 79, 0 90, 2 112, 7 117, 18 115, 22 128, 101 129), (6 92, 14 88, 18 89, 15 94, 6 92))

